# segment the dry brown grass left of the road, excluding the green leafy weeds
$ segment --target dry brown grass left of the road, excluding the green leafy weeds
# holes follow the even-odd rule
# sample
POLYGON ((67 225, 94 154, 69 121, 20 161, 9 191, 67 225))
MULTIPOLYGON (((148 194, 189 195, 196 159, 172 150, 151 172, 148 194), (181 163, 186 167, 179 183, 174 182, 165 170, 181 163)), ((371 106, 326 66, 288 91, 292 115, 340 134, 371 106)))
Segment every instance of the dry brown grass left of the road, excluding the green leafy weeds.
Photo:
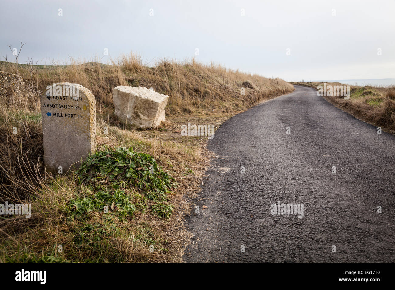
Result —
MULTIPOLYGON (((0 63, 1 71, 13 70, 0 63)), ((190 234, 182 220, 190 210, 188 201, 199 192, 211 153, 205 150, 207 138, 182 137, 179 125, 193 122, 222 122, 256 103, 291 92, 293 87, 280 79, 266 79, 231 71, 219 65, 202 65, 193 60, 179 63, 160 61, 154 67, 141 58, 124 56, 113 65, 97 63, 55 65, 19 73, 30 86, 23 94, 0 103, 0 199, 2 202, 31 203, 32 217, 0 217, 0 262, 181 262, 190 234), (90 194, 78 185, 75 175, 48 176, 43 170, 43 143, 39 96, 56 82, 79 83, 90 89, 97 100, 98 145, 133 146, 154 156, 160 166, 179 183, 169 200, 173 215, 160 219, 152 213, 139 213, 127 223, 117 223, 117 232, 93 247, 76 247, 73 240, 85 225, 105 226, 101 213, 87 221, 70 221, 68 202, 90 194), (244 82, 244 84, 243 84, 244 82), (111 93, 115 86, 153 87, 170 96, 168 121, 156 130, 135 131, 117 122, 111 93), (245 95, 240 94, 245 86, 245 95), (13 134, 13 127, 17 134, 13 134), (104 127, 109 134, 103 133, 104 127), (154 242, 156 251, 149 252, 154 242), (58 253, 58 245, 63 253, 58 253), (47 260, 46 260, 47 259, 47 260)))

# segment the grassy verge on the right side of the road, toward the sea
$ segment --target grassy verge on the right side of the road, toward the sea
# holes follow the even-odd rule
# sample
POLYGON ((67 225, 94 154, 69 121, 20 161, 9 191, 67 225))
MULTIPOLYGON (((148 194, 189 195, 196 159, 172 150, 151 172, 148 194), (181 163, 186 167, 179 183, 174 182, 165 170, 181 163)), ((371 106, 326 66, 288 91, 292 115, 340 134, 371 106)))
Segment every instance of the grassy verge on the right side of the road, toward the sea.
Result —
MULTIPOLYGON (((291 82, 317 89, 323 82, 291 82)), ((328 85, 340 86, 339 82, 328 85)), ((395 88, 374 86, 350 86, 350 99, 342 96, 325 96, 329 103, 348 112, 354 117, 382 127, 384 131, 395 134, 395 88)))

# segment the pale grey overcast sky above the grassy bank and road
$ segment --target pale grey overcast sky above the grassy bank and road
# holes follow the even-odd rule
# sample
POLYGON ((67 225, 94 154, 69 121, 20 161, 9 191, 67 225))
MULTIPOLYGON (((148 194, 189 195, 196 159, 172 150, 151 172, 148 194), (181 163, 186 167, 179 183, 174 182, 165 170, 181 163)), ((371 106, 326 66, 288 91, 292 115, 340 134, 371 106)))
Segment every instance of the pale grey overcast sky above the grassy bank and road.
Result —
POLYGON ((0 56, 22 40, 23 63, 133 51, 288 81, 395 78, 394 12, 393 0, 2 1, 0 56))

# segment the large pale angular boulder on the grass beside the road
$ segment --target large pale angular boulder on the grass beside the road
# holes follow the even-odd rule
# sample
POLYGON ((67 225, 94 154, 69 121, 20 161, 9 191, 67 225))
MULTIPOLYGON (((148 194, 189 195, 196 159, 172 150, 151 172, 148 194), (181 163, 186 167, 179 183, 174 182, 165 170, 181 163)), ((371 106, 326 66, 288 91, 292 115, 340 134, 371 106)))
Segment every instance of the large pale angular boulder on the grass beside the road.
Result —
POLYGON ((121 122, 139 129, 158 127, 165 120, 168 95, 132 86, 117 86, 113 90, 115 114, 121 122))

